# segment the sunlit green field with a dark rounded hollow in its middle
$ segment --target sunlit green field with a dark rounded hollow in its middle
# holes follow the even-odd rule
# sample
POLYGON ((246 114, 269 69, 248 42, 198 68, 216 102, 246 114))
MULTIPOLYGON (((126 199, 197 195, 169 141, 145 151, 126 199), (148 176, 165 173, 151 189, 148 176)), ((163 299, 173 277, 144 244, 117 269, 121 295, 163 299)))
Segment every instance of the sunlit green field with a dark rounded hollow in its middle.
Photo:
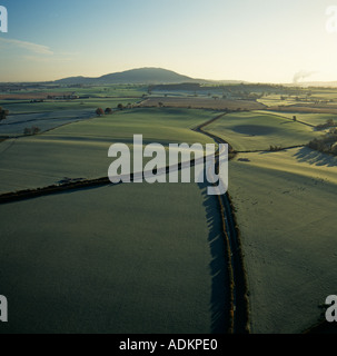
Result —
POLYGON ((268 111, 228 113, 209 125, 206 131, 221 137, 238 151, 305 145, 318 136, 310 127, 268 111))

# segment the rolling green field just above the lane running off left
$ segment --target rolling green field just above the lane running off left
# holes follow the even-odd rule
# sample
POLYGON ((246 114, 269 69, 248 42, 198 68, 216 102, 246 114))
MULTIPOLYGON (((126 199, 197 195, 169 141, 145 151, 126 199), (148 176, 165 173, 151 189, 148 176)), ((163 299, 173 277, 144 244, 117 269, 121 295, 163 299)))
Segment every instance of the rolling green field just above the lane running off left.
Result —
POLYGON ((217 113, 187 109, 133 109, 70 123, 34 137, 0 144, 0 191, 53 185, 65 177, 106 177, 112 144, 214 142, 191 128, 217 113))

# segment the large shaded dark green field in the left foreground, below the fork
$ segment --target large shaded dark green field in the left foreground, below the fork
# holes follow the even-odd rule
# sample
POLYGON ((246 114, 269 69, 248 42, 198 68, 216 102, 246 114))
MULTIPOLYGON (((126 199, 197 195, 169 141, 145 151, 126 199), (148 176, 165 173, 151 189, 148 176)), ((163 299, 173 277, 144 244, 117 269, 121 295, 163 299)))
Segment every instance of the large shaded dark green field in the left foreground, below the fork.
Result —
POLYGON ((212 333, 225 251, 204 189, 131 184, 0 206, 0 334, 212 333))

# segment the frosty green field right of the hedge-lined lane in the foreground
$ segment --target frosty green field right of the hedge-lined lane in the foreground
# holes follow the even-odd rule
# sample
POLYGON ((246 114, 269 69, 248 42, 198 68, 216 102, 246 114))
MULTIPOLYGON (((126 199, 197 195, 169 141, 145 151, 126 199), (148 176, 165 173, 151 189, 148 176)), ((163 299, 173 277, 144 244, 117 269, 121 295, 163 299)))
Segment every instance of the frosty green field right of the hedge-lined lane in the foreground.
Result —
POLYGON ((252 333, 300 333, 335 293, 336 177, 337 158, 308 148, 242 154, 230 162, 252 333))

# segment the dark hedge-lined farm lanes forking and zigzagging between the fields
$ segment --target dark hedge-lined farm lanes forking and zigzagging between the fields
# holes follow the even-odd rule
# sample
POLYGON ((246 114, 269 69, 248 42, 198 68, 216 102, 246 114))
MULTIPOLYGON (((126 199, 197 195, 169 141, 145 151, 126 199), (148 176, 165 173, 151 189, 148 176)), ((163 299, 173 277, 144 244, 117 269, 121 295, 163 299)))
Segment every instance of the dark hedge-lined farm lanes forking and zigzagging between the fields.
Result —
MULTIPOLYGON (((194 128, 194 131, 200 132, 212 138, 217 144, 227 144, 221 138, 204 131, 204 128, 208 125, 212 123, 214 121, 220 119, 224 115, 222 113, 200 126, 194 128)), ((227 144, 228 145, 228 144, 227 144)), ((229 156, 235 157, 232 147, 229 146, 229 156)), ((177 169, 181 170, 184 164, 178 164, 177 169)), ((190 167, 196 165, 195 160, 189 162, 190 167)), ((216 158, 216 165, 218 165, 218 156, 216 158)), ((169 166, 163 168, 165 172, 168 174, 170 171, 169 166)), ((142 171, 142 177, 147 172, 142 171)), ((139 174, 131 174, 130 180, 137 177, 139 178, 139 174)), ((119 182, 122 184, 122 182, 119 182)), ((96 187, 103 187, 111 185, 111 181, 108 177, 101 177, 97 179, 73 179, 66 184, 60 185, 52 185, 43 188, 37 189, 26 189, 14 192, 8 192, 0 195, 0 205, 10 204, 16 201, 22 201, 27 199, 39 198, 42 196, 50 196, 56 194, 61 194, 65 191, 76 191, 79 189, 90 189, 96 187)), ((247 278, 246 271, 244 268, 244 260, 242 260, 242 253, 241 253, 241 245, 239 240, 239 230, 236 224, 236 218, 234 216, 234 208, 230 201, 230 197, 228 192, 222 196, 218 196, 218 206, 221 214, 221 233, 225 240, 225 246, 227 247, 227 273, 228 273, 228 290, 230 291, 229 297, 229 305, 228 305, 228 333, 229 334, 246 334, 249 333, 249 306, 248 306, 248 287, 247 287, 247 278)))

